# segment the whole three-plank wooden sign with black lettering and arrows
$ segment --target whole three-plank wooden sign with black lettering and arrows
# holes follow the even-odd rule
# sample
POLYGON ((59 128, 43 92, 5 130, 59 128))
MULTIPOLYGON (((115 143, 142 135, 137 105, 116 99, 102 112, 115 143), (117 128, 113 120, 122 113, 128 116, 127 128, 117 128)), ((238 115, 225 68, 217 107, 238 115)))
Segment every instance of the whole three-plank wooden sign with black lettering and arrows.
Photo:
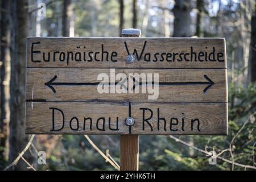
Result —
POLYGON ((27 38, 27 134, 226 135, 227 100, 225 39, 27 38))

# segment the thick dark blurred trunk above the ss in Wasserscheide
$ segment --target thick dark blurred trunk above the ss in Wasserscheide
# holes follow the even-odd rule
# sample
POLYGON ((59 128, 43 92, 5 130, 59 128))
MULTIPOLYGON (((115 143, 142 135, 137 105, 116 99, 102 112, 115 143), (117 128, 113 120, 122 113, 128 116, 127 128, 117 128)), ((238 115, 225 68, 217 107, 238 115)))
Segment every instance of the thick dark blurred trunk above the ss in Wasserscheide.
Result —
POLYGON ((191 0, 175 0, 174 37, 191 37, 191 0))

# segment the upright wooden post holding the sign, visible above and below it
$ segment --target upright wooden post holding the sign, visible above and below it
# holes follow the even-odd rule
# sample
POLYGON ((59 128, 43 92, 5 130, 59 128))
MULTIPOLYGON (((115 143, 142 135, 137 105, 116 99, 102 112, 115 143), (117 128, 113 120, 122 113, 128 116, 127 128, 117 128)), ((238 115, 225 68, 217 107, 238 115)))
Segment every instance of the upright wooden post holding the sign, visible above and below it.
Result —
MULTIPOLYGON (((123 37, 141 37, 141 30, 127 28, 122 30, 123 37)), ((130 116, 129 116, 130 117, 130 116)), ((120 140, 121 171, 138 171, 139 169, 139 135, 121 135, 120 140)))

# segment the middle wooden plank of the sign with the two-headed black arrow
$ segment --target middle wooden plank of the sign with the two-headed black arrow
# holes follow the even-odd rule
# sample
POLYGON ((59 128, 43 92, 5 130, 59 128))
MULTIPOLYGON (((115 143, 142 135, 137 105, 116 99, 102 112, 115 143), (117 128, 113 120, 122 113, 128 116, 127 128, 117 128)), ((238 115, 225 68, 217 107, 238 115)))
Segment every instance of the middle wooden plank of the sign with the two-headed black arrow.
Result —
MULTIPOLYGON (((142 90, 139 93, 131 93, 130 91, 119 94, 116 91, 114 93, 99 93, 97 84, 92 83, 99 82, 97 77, 100 73, 106 73, 110 78, 110 69, 27 68, 26 99, 46 101, 227 102, 226 69, 115 69, 114 76, 118 73, 125 73, 126 76, 129 76, 129 73, 144 73, 148 76, 151 73, 153 81, 155 74, 158 74, 159 94, 156 94, 157 90, 155 93, 148 93, 148 90, 146 93, 142 93, 142 90), (48 84, 47 86, 46 83, 49 83, 55 76, 57 76, 55 80, 50 83, 60 83, 60 85, 48 84), (209 86, 210 82, 205 76, 214 82, 206 92, 204 89, 209 86), (160 85, 160 82, 171 82, 171 84, 160 85), (90 83, 92 85, 68 85, 72 83, 90 83), (148 100, 148 96, 152 95, 158 96, 155 97, 157 99, 148 100)), ((142 87, 145 88, 145 85, 142 87)))

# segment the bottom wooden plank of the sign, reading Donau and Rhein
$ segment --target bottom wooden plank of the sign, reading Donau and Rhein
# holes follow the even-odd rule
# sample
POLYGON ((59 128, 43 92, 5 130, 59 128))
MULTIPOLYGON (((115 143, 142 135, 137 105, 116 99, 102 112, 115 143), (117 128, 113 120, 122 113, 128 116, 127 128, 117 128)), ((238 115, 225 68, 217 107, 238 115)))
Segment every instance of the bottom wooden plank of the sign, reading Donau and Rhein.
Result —
POLYGON ((228 116, 226 103, 175 103, 175 102, 131 102, 131 117, 134 126, 127 126, 129 104, 123 102, 27 102, 27 134, 152 134, 152 135, 226 135, 228 134, 228 116), (55 109, 53 109, 55 108, 55 109), (143 109, 144 108, 144 109, 143 109), (166 131, 164 121, 166 119, 166 131), (59 110, 57 110, 59 109, 59 110), (63 115, 64 126, 63 126, 63 115), (144 114, 143 114, 144 110, 144 114), (152 112, 152 117, 150 118, 152 112), (54 117, 53 117, 54 114, 54 117), (144 115, 144 119, 143 119, 144 115), (73 118, 76 117, 76 118, 73 118), (92 130, 90 120, 92 118, 92 130), (118 130, 117 129, 118 117, 118 130), (53 119, 54 118, 54 119, 53 119), (73 119, 72 119, 73 118, 73 119), (105 118, 105 131, 103 119, 105 118), (109 118, 110 126, 109 129, 109 118), (172 119, 171 119, 172 118, 172 119), (175 119, 177 118, 177 119, 175 119), (199 121, 198 121, 198 120, 199 121), (77 120, 79 127, 77 127, 77 120), (54 121, 54 124, 53 124, 54 121), (71 121, 71 126, 70 126, 71 121), (143 122, 144 121, 144 122, 143 122), (172 127, 171 127, 172 121, 172 127), (144 130, 143 130, 144 123, 144 130), (177 123, 177 124, 176 124, 177 123), (53 129, 54 126, 54 129, 53 129), (61 127, 63 126, 63 129, 61 127), (151 127, 152 130, 151 130, 151 127), (192 130, 193 126, 193 130, 192 130), (78 129, 77 129, 78 128, 78 129), (61 130, 60 130, 61 129, 61 130), (99 130, 101 129, 101 130, 99 130), (172 129, 172 130, 171 130, 172 129), (177 130, 177 131, 174 131, 177 130))

